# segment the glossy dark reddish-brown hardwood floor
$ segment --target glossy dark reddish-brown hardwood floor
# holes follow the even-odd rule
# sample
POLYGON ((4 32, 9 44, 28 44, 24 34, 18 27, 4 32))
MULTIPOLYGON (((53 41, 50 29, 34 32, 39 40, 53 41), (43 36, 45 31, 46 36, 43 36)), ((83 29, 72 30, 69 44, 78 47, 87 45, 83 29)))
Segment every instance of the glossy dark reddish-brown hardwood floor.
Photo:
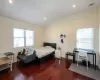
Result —
POLYGON ((71 62, 65 59, 62 59, 60 64, 58 59, 49 60, 41 65, 21 65, 15 63, 12 72, 9 70, 0 72, 0 80, 93 80, 86 76, 69 71, 68 68, 70 64, 71 62), (55 67, 55 69, 51 69, 50 67, 55 67), (50 69, 52 70, 51 74, 54 76, 52 79, 48 75, 50 74, 50 69), (58 74, 60 71, 61 74, 58 74), (44 75, 46 72, 48 73, 44 75), (42 77, 40 77, 40 75, 42 75, 42 77))

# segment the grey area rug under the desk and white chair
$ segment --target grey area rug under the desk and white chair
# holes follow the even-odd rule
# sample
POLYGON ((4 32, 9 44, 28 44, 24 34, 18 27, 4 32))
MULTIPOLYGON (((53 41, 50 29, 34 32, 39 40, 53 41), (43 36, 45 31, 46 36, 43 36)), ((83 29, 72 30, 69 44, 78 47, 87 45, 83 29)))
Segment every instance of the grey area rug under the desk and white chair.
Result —
POLYGON ((85 66, 82 65, 77 66, 76 64, 71 64, 69 70, 90 77, 94 80, 100 80, 100 71, 95 70, 93 68, 88 68, 87 70, 85 66))

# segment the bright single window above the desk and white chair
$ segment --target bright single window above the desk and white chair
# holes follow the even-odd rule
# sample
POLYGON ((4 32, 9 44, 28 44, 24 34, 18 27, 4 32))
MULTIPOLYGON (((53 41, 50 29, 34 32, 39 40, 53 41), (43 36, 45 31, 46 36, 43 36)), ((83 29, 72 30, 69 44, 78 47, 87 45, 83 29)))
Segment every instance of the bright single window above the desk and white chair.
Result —
POLYGON ((94 29, 93 28, 83 28, 77 30, 77 48, 82 49, 94 49, 93 45, 93 37, 94 37, 94 29))

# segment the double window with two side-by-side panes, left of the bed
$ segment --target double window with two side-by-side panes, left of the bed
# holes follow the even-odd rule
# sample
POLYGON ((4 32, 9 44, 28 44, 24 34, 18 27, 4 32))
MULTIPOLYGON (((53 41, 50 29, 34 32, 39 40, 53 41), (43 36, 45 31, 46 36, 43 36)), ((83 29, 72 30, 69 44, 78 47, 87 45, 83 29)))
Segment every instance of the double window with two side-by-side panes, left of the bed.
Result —
POLYGON ((14 28, 14 48, 32 46, 34 33, 31 30, 16 29, 14 28))

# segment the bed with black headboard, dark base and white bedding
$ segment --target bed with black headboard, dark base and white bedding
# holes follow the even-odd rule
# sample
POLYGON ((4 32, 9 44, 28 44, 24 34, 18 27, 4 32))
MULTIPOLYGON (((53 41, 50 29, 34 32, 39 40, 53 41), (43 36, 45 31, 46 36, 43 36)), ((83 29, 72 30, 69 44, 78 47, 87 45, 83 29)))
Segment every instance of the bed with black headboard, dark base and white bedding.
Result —
POLYGON ((41 64, 47 60, 53 59, 55 56, 56 43, 43 43, 43 47, 35 49, 37 61, 41 64))

